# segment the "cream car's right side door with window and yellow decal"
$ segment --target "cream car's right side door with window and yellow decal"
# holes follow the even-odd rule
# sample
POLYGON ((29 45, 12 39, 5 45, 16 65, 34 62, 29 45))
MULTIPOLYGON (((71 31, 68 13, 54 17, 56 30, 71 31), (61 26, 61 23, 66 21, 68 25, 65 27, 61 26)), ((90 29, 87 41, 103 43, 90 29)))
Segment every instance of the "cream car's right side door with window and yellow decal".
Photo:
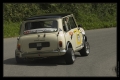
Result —
POLYGON ((65 20, 65 26, 67 31, 65 34, 66 41, 70 41, 73 49, 76 50, 76 48, 81 44, 82 35, 77 28, 73 16, 67 17, 67 20, 65 20))

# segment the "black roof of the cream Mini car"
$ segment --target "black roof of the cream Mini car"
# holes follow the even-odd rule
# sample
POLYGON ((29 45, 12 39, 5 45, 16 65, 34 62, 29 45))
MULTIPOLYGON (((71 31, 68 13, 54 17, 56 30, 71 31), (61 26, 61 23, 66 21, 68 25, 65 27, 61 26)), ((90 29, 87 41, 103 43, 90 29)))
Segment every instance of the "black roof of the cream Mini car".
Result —
POLYGON ((39 16, 32 16, 25 19, 26 20, 35 20, 35 19, 47 19, 47 18, 61 18, 71 15, 71 13, 59 13, 59 14, 44 14, 39 16))

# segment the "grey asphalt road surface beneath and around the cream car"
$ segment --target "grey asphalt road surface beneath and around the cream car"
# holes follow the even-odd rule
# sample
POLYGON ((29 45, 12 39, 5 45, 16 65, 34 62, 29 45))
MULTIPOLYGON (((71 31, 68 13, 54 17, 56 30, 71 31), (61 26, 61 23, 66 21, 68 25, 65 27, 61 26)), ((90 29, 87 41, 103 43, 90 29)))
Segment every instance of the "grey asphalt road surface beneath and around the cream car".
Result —
POLYGON ((117 77, 115 67, 116 28, 87 30, 89 56, 76 53, 75 63, 66 65, 61 57, 16 64, 17 38, 4 39, 3 77, 117 77))

